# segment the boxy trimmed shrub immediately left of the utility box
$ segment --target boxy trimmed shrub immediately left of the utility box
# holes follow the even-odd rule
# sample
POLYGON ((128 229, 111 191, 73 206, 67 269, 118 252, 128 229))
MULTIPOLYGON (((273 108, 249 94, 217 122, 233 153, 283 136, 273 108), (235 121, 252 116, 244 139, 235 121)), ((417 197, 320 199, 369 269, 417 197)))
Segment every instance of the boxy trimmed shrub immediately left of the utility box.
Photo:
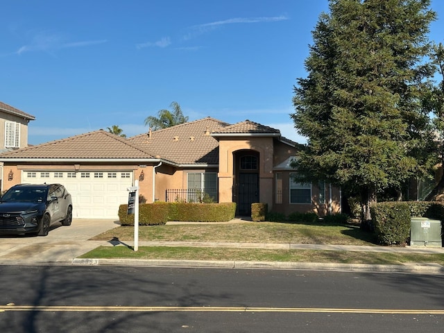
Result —
POLYGON ((410 205, 396 201, 375 203, 370 207, 379 244, 404 245, 410 237, 410 205))

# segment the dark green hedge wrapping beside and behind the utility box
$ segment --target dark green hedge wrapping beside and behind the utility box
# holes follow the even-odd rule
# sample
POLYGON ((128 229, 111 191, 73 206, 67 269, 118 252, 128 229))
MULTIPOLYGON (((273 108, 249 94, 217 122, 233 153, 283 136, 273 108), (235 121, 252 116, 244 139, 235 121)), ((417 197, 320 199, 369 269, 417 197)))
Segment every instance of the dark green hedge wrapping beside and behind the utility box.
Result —
MULTIPOLYGON (((411 217, 444 221, 444 205, 436 201, 396 201, 375 203, 370 207, 373 225, 380 244, 407 244, 411 217)), ((443 230, 443 228, 441 228, 443 230)))

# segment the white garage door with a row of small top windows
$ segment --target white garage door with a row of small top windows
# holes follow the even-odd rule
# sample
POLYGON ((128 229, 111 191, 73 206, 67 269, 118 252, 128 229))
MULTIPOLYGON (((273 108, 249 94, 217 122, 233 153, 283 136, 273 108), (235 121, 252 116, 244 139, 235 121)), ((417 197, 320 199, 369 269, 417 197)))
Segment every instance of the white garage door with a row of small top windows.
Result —
POLYGON ((119 205, 128 203, 133 172, 23 171, 22 180, 64 185, 72 196, 74 219, 118 219, 119 205))

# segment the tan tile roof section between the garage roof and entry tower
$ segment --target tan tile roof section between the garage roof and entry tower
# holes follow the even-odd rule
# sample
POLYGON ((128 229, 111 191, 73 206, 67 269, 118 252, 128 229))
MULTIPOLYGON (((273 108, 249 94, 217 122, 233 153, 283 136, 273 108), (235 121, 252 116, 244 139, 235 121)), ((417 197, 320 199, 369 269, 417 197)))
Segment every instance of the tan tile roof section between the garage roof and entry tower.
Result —
POLYGON ((211 136, 229 123, 211 117, 155 130, 129 140, 146 151, 177 164, 219 164, 219 142, 211 136))

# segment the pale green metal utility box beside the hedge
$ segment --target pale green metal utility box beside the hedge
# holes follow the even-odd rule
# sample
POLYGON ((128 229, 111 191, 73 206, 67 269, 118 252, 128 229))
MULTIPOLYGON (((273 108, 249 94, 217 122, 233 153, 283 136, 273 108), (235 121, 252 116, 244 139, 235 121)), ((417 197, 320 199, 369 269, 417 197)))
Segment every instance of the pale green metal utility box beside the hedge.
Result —
POLYGON ((410 246, 443 246, 441 221, 427 219, 427 217, 412 217, 410 246))

